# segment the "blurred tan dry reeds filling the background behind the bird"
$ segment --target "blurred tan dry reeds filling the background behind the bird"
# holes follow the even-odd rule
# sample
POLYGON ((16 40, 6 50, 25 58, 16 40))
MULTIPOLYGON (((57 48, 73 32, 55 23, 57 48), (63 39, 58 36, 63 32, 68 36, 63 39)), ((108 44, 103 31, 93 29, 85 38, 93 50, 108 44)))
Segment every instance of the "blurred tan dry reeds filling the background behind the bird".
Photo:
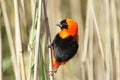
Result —
MULTIPOLYGON (((34 20, 34 0, 17 1, 27 78, 15 77, 17 61, 12 61, 17 60, 17 56, 12 56, 17 53, 12 47, 15 47, 18 36, 14 0, 0 0, 0 80, 28 80, 27 47, 34 20)), ((57 22, 71 18, 79 25, 79 50, 73 59, 59 68, 55 80, 120 80, 120 0, 46 0, 46 8, 52 40, 60 31, 57 22)), ((49 59, 44 20, 42 7, 40 40, 47 80, 49 59)))

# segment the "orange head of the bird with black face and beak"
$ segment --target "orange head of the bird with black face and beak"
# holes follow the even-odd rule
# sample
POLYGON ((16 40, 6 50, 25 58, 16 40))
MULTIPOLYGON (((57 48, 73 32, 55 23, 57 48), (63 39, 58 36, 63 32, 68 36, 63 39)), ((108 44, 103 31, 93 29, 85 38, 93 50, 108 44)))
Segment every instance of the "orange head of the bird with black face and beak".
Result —
POLYGON ((65 19, 57 24, 61 28, 59 33, 61 38, 66 38, 68 36, 76 37, 78 35, 78 25, 75 20, 65 19))

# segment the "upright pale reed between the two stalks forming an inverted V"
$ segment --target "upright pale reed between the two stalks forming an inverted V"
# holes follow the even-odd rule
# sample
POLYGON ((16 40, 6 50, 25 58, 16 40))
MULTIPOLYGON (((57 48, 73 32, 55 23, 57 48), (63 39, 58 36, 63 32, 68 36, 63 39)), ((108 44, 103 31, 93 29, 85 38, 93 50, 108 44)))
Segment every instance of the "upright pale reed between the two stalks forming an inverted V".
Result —
MULTIPOLYGON (((93 5, 93 2, 91 2, 93 5)), ((87 68, 88 68, 88 80, 93 80, 93 17, 90 13, 89 20, 89 50, 88 50, 88 60, 87 60, 87 68)))

